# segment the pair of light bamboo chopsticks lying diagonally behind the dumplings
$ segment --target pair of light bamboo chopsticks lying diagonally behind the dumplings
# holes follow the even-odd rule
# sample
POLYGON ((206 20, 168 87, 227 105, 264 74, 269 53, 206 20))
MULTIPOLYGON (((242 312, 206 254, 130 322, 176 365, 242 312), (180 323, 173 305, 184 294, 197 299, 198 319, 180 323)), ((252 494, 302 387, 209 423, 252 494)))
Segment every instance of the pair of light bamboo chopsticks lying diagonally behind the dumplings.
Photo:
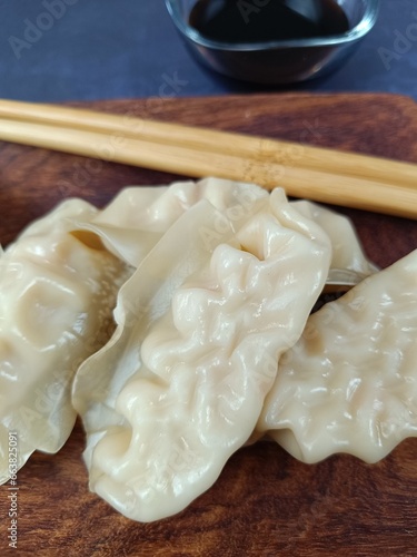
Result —
POLYGON ((93 110, 0 100, 0 139, 417 218, 417 165, 93 110))

